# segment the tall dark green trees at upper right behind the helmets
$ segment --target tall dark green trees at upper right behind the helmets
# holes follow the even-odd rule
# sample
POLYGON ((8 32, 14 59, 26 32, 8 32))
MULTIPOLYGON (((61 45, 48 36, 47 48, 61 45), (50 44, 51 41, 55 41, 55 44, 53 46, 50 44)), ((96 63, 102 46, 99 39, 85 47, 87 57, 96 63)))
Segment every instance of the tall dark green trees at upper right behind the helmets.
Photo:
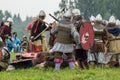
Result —
MULTIPOLYGON (((101 14, 104 19, 109 19, 111 15, 120 19, 120 0, 74 0, 72 3, 70 1, 71 0, 61 0, 59 4, 60 10, 65 7, 78 8, 86 20, 88 20, 91 15, 96 16, 97 14, 101 14)), ((54 14, 57 15, 60 13, 60 10, 54 14)))

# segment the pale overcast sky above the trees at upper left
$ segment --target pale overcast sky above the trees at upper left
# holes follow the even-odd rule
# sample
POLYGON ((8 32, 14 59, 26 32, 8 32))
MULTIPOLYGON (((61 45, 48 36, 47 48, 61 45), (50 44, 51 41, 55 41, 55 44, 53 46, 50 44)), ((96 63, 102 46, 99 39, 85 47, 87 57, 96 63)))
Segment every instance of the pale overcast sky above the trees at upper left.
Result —
POLYGON ((49 13, 59 10, 61 0, 0 0, 0 10, 8 10, 12 14, 20 13, 22 20, 26 16, 37 16, 40 10, 44 10, 47 14, 46 20, 52 20, 49 13))

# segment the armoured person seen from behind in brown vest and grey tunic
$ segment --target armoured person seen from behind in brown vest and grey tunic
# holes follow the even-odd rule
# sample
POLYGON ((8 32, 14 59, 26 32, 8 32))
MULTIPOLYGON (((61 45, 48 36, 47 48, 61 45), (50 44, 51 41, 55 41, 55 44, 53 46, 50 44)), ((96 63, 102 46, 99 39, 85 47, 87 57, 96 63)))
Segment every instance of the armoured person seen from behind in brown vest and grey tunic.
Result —
POLYGON ((76 44, 79 44, 79 34, 75 30, 75 26, 71 23, 72 13, 68 10, 59 23, 51 30, 52 34, 56 34, 56 40, 51 53, 55 54, 55 70, 59 71, 63 60, 69 62, 71 70, 74 69, 74 56, 73 56, 73 39, 76 44))

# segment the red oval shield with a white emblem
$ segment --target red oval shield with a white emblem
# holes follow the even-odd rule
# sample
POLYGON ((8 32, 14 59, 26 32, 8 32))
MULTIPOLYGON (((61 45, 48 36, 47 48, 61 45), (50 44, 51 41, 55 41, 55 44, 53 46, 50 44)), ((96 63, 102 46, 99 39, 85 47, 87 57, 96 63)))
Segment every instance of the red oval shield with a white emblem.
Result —
POLYGON ((84 22, 80 27, 80 43, 83 49, 88 50, 94 43, 94 31, 90 22, 84 22))

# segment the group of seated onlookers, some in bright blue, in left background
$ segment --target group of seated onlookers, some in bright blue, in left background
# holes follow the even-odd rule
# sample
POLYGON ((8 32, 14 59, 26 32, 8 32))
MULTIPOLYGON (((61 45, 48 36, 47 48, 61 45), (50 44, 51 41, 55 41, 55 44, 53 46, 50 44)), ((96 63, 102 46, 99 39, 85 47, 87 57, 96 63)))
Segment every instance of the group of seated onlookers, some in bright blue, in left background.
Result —
POLYGON ((23 52, 28 47, 27 37, 23 36, 23 40, 17 37, 17 32, 13 32, 6 40, 6 47, 9 52, 23 52))

